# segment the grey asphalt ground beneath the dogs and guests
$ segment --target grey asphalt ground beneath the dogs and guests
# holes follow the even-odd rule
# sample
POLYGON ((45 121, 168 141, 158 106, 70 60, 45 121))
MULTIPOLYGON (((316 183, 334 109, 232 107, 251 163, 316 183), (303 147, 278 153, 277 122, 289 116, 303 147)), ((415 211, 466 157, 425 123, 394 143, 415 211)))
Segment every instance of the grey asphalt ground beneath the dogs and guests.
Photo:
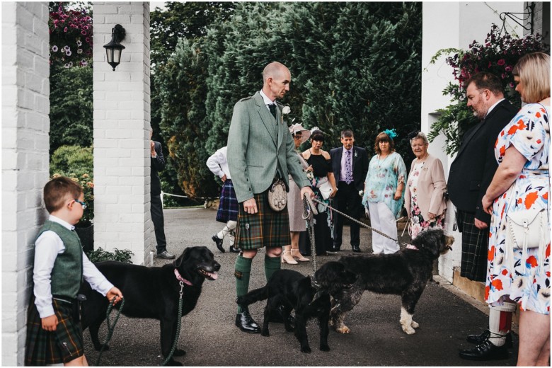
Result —
MULTIPOLYGON (((178 347, 187 354, 176 357, 186 366, 513 366, 517 360, 517 335, 508 360, 473 362, 462 360, 459 350, 473 347, 466 335, 480 333, 488 326, 488 317, 473 298, 454 291, 446 282, 431 280, 416 307, 414 320, 420 328, 406 335, 399 325, 401 298, 395 295, 365 292, 362 301, 350 311, 345 324, 349 334, 330 330, 329 352, 318 350, 319 334, 316 321, 309 322, 307 333, 312 352, 299 350, 293 333, 287 333, 280 323, 270 324, 270 337, 243 333, 234 326, 236 316, 236 286, 234 262, 236 253, 229 253, 229 240, 224 239, 226 253, 217 250, 211 236, 223 224, 215 221, 216 210, 204 208, 165 209, 165 230, 168 251, 179 255, 188 246, 207 246, 222 265, 219 278, 205 281, 196 308, 182 318, 178 347), (454 292, 451 292, 454 291, 454 292), (481 309, 481 310, 480 310, 481 309)), ((400 235, 400 234, 399 234, 400 235)), ((405 234, 407 236, 407 234, 405 234)), ((368 229, 361 228, 362 252, 372 251, 368 229)), ((340 255, 352 253, 349 229, 343 229, 340 255)), ((408 238, 401 237, 401 241, 408 238)), ((459 246, 455 244, 453 246, 459 246)), ((339 255, 318 257, 318 267, 339 255)), ((250 289, 265 284, 264 251, 253 260, 250 289)), ((155 260, 155 266, 170 263, 155 260)), ((282 265, 312 275, 311 262, 282 265)), ((440 280, 436 277, 436 280, 440 280)), ((250 306, 255 321, 263 321, 264 302, 250 306)), ((106 323, 100 328, 100 340, 107 334, 106 323)), ((93 349, 90 335, 84 331, 86 356, 95 364, 98 352, 93 349)), ((121 316, 110 342, 103 352, 100 365, 156 366, 163 362, 159 341, 159 321, 121 316)))

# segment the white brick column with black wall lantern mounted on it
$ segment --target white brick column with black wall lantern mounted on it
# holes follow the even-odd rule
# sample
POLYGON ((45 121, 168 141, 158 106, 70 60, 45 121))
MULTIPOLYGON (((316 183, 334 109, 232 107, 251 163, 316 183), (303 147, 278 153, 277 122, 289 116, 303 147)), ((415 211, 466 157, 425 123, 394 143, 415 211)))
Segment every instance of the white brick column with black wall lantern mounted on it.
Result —
MULTIPOLYGON (((150 263, 149 3, 93 3, 94 247, 130 249, 150 263), (116 24, 126 48, 115 71, 103 45, 116 24)), ((144 262, 145 260, 145 262, 144 262)))

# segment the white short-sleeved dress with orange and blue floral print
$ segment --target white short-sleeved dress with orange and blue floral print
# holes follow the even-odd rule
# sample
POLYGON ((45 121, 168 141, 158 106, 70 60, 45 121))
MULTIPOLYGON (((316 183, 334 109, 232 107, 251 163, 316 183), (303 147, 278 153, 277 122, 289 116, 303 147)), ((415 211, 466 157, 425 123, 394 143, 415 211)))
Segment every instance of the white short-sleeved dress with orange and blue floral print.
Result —
MULTIPOLYGON (((508 211, 546 208, 548 212, 550 128, 546 109, 542 105, 525 105, 500 132, 495 143, 499 165, 510 146, 514 146, 527 159, 527 163, 514 183, 515 200, 510 201, 509 192, 505 192, 493 204, 485 299, 489 304, 498 306, 502 304, 503 297, 509 295, 522 310, 550 314, 550 242, 544 249, 527 249, 524 257, 522 249, 514 248, 512 260, 508 259, 512 255, 506 254, 505 246, 505 214, 508 211)), ((544 231, 550 232, 550 220, 548 229, 544 231)))

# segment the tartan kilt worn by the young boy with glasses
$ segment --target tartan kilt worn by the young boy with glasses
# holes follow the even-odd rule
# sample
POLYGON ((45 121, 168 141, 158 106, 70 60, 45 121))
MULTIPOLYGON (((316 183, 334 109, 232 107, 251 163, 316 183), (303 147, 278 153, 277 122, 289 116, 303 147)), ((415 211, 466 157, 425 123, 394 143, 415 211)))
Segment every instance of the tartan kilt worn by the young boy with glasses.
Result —
POLYGON ((80 323, 73 318, 73 305, 52 299, 57 316, 55 331, 42 328, 42 319, 31 297, 27 316, 27 340, 25 342, 25 365, 46 365, 71 362, 84 355, 80 323))

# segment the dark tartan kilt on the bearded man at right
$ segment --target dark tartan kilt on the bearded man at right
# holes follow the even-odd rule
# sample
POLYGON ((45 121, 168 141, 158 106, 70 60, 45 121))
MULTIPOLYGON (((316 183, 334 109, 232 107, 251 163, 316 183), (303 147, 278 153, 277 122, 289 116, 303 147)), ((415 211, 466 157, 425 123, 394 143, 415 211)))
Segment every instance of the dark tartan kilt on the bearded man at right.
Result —
POLYGON ((478 229, 475 225, 475 214, 469 212, 458 211, 457 220, 462 233, 460 275, 472 281, 485 282, 489 229, 478 229))

